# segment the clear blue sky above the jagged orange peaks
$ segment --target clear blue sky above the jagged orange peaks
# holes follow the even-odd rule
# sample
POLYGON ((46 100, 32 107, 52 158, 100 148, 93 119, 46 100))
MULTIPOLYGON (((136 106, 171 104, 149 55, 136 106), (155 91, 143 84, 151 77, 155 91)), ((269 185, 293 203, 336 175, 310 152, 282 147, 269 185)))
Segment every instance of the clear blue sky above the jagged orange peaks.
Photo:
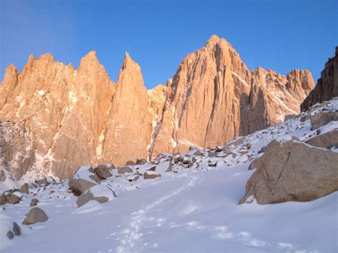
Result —
POLYGON ((30 53, 78 67, 96 50, 116 81, 128 51, 152 88, 214 33, 250 70, 309 69, 317 81, 338 45, 338 1, 0 0, 0 79, 11 63, 21 71, 30 53))

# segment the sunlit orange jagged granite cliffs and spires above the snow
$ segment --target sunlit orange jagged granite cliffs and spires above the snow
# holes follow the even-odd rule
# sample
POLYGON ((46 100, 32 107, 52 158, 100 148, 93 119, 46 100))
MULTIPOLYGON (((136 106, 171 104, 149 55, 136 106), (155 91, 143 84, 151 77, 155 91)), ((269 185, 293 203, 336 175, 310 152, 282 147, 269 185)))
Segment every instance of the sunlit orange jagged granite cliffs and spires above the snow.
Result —
POLYGON ((21 73, 6 69, 0 87, 0 166, 16 180, 31 171, 69 178, 83 164, 222 145, 299 113, 312 88, 309 71, 249 71, 217 36, 150 91, 128 53, 116 83, 95 51, 77 70, 48 53, 29 56, 21 73))

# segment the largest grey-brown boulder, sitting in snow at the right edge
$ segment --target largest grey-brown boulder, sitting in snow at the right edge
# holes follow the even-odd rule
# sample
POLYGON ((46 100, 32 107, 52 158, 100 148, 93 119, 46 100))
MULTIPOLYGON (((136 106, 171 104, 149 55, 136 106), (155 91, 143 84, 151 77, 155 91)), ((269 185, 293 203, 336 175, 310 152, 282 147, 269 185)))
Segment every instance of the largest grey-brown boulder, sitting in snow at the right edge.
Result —
POLYGON ((304 202, 338 190, 338 153, 297 139, 272 140, 255 162, 257 170, 247 181, 240 204, 252 202, 252 197, 261 205, 304 202))

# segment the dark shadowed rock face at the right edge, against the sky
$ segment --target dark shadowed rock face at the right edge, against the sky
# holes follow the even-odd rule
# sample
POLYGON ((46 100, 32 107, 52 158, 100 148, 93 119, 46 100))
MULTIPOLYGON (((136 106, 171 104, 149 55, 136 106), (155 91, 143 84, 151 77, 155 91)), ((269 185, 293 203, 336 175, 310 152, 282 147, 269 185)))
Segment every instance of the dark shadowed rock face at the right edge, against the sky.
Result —
POLYGON ((300 105, 300 109, 307 110, 316 103, 322 103, 335 97, 338 97, 338 46, 336 46, 334 57, 329 58, 325 63, 317 86, 307 95, 300 105))

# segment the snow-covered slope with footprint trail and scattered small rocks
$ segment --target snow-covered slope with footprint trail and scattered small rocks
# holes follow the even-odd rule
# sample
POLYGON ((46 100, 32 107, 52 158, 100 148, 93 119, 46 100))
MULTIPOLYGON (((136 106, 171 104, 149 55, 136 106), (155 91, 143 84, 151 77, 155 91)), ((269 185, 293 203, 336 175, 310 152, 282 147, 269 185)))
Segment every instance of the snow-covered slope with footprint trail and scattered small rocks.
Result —
MULTIPOLYGON (((321 110, 338 110, 338 99, 311 113, 321 110)), ((319 130, 335 128, 338 121, 319 130)), ((337 252, 337 192, 312 202, 238 205, 253 172, 250 160, 262 155, 262 147, 275 138, 304 141, 317 133, 302 113, 225 146, 130 166, 140 175, 136 181, 134 173, 111 170, 113 177, 101 185, 118 197, 103 204, 77 207, 67 181, 30 188, 19 204, 1 208, 0 247, 4 252, 337 252), (143 179, 155 165, 161 177, 143 179), (9 240, 6 232, 13 221, 21 224, 32 198, 39 199, 37 207, 49 220, 31 229, 20 225, 22 234, 9 240)))

